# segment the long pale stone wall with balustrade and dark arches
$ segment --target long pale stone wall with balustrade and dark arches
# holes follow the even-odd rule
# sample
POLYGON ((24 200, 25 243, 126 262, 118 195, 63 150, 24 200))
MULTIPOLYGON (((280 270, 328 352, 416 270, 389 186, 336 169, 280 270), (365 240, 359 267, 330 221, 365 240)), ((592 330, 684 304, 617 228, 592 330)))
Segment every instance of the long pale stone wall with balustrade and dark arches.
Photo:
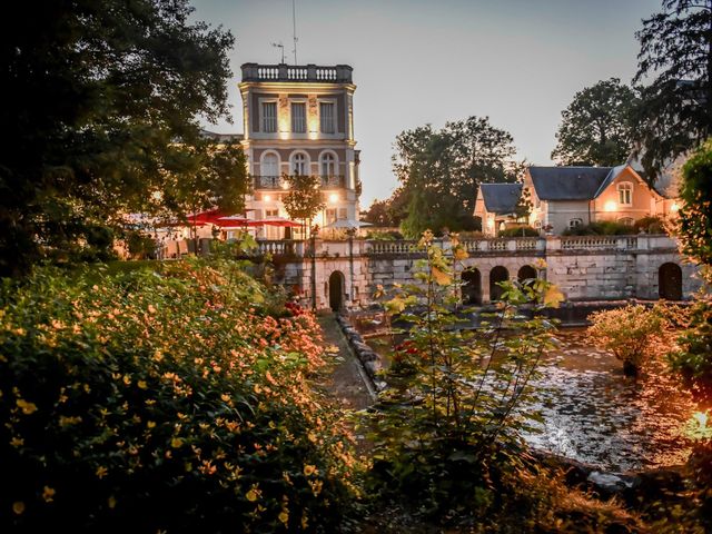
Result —
MULTIPOLYGON (((570 300, 680 300, 700 287, 698 267, 678 251, 678 241, 663 235, 546 236, 463 240, 463 298, 472 304, 495 300, 505 279, 538 276, 556 284, 570 300)), ((449 241, 436 245, 447 249, 449 241)), ((270 254, 277 280, 316 307, 366 305, 377 284, 414 283, 415 261, 425 254, 411 240, 260 241, 270 254)))

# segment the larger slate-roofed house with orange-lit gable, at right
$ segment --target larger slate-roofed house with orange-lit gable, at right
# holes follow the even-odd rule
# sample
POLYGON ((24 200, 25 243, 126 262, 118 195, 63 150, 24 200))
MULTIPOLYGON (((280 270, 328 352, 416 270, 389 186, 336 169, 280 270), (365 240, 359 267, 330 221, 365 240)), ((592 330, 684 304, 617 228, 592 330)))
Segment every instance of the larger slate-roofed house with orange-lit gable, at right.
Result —
POLYGON ((530 224, 553 234, 591 222, 633 225, 674 211, 672 199, 651 188, 630 164, 617 167, 530 167, 530 224))

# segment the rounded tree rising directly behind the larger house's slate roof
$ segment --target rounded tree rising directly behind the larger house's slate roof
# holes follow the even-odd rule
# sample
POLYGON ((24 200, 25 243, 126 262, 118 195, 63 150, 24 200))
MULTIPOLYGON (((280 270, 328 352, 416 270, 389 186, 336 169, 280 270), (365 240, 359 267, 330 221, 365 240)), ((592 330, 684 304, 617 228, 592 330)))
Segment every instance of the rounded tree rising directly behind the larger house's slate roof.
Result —
POLYGON ((633 148, 631 113, 636 93, 617 78, 576 92, 562 111, 552 159, 560 165, 613 167, 633 148))

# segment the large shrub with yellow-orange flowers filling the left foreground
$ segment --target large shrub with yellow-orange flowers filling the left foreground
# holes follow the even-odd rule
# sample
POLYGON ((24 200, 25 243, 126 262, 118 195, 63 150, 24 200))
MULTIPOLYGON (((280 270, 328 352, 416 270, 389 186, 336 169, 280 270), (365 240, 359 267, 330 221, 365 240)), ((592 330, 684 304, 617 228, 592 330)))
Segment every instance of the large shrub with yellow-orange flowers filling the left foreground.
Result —
POLYGON ((328 531, 353 497, 314 317, 234 264, 0 298, 0 531, 328 531))

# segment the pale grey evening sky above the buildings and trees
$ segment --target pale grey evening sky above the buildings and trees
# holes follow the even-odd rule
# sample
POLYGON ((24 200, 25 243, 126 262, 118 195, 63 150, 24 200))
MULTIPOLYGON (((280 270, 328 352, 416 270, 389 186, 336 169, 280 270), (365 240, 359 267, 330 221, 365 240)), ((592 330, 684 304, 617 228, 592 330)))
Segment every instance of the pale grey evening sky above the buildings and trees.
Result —
MULTIPOLYGON (((551 165, 561 111, 576 91, 611 77, 630 82, 641 20, 661 0, 295 0, 298 65, 354 68, 362 209, 388 197, 396 136, 469 116, 514 137, 517 158, 551 165)), ((294 63, 291 0, 191 0, 195 19, 236 38, 229 58, 233 125, 245 62, 294 63)))

